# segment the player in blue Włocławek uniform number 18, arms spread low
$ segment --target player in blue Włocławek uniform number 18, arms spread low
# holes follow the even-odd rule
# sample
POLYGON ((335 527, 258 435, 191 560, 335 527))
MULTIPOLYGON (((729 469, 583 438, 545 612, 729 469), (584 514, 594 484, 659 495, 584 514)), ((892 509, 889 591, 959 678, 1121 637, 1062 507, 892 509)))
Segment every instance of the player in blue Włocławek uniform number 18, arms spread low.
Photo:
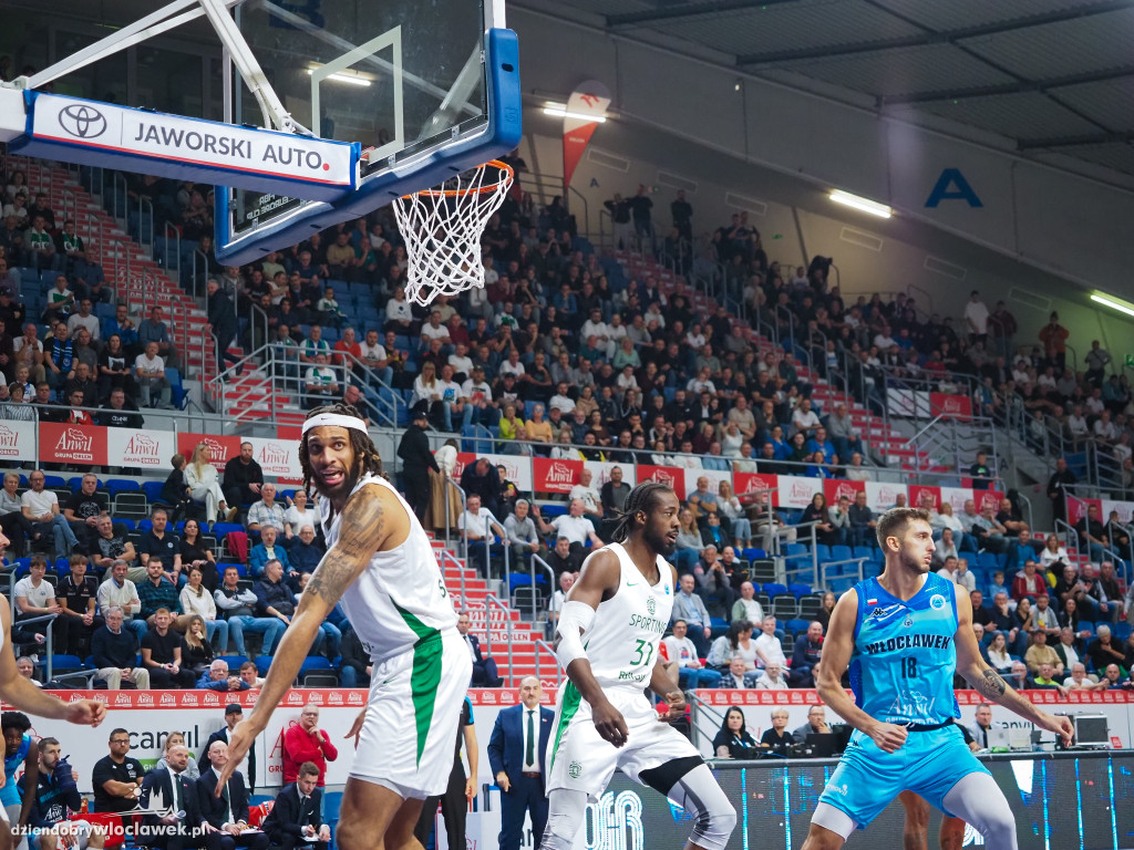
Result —
POLYGON ((1008 801, 953 723, 953 675, 1068 743, 1070 721, 1040 711, 981 660, 967 592, 930 572, 926 511, 887 511, 878 541, 886 569, 843 595, 823 641, 819 695, 856 731, 803 850, 840 848, 904 790, 972 824, 990 850, 1016 850, 1008 801), (839 681, 848 666, 853 700, 839 681))

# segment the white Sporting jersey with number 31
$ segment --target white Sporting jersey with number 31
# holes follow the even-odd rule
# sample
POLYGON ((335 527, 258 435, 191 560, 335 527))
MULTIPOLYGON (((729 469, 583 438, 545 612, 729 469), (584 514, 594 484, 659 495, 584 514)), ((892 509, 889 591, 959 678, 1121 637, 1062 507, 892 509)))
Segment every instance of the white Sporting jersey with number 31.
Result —
POLYGON ((650 682, 674 607, 672 568, 659 558, 661 579, 651 586, 621 544, 607 549, 618 555, 618 590, 599 604, 583 644, 599 685, 641 690, 650 682))

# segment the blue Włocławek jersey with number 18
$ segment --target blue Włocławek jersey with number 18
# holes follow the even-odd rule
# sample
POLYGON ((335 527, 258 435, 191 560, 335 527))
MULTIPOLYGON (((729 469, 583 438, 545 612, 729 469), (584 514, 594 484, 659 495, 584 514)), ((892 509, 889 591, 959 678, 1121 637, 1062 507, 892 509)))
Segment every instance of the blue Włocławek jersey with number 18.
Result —
POLYGON ((932 725, 959 717, 953 675, 957 669, 957 597, 954 584, 928 573, 902 601, 869 578, 855 585, 850 688, 866 714, 886 723, 932 725))

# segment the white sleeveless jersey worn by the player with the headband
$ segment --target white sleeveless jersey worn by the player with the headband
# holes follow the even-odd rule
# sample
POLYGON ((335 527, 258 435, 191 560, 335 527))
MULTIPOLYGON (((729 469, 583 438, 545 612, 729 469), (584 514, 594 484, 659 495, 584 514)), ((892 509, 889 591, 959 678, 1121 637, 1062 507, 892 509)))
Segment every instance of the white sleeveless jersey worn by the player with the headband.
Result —
MULTIPOLYGON (((389 490, 409 518, 405 542, 388 552, 375 552, 366 569, 342 594, 344 613, 371 660, 380 664, 412 649, 422 639, 456 629, 457 614, 433 546, 413 509, 384 478, 370 474, 358 481, 348 499, 354 499, 366 485, 389 490)), ((339 538, 342 516, 332 511, 325 496, 320 496, 319 513, 330 550, 339 538)))

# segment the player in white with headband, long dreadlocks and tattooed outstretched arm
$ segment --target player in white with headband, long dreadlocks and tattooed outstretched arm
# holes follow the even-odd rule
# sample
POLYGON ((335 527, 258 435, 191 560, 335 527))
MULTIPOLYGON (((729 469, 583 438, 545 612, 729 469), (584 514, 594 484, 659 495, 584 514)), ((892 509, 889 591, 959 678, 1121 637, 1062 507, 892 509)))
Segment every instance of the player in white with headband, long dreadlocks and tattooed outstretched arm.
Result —
POLYGON ((412 847, 423 800, 448 787, 472 661, 429 538, 380 476, 378 450, 357 410, 342 403, 313 410, 303 425, 299 462, 321 496, 327 554, 276 651, 255 709, 230 736, 222 779, 266 728, 341 600, 374 669, 370 703, 347 736, 357 751, 336 843, 341 850, 412 847))

